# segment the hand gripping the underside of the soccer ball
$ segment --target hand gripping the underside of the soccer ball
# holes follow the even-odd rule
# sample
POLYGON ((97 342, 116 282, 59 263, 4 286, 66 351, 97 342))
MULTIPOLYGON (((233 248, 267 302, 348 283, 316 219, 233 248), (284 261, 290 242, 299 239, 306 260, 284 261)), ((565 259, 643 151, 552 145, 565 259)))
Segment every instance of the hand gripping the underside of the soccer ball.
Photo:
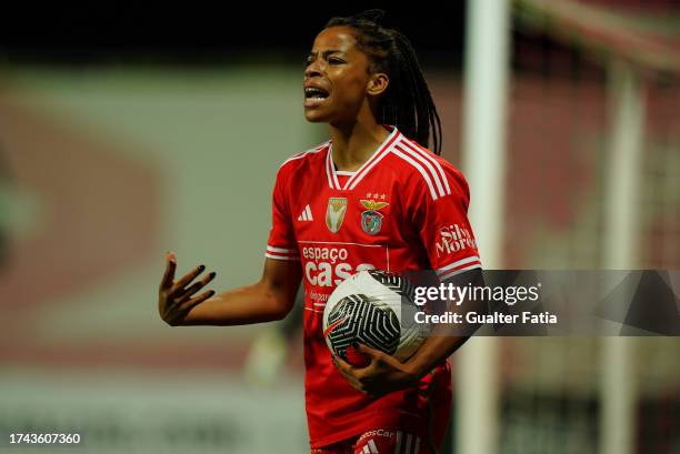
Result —
POLYGON ((418 383, 418 376, 411 367, 394 356, 361 344, 358 350, 371 360, 366 367, 352 366, 341 357, 331 355, 340 373, 357 391, 379 397, 418 383))

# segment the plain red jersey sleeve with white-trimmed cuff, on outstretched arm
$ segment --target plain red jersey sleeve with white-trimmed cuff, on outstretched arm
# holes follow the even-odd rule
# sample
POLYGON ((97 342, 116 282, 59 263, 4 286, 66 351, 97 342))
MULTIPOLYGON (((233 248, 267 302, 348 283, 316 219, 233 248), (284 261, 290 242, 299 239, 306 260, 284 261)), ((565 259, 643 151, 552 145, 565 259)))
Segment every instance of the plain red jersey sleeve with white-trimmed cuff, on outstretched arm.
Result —
POLYGON ((268 259, 300 260, 287 193, 284 169, 281 168, 272 194, 271 231, 264 253, 268 259))

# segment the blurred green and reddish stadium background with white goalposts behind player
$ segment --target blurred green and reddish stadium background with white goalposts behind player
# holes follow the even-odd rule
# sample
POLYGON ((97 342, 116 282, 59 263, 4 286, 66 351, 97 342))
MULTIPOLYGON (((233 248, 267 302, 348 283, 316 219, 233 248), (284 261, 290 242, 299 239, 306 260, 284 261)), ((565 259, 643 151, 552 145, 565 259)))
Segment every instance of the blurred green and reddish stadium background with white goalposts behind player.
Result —
MULTIPOLYGON (((387 24, 421 57, 486 266, 678 270, 680 3, 420 6, 387 24)), ((366 7, 249 8, 60 9, 0 33, 0 433, 308 450, 290 323, 156 311, 167 250, 218 290, 259 276, 278 165, 324 140, 303 58, 366 7)), ((447 452, 680 453, 677 337, 474 339, 453 357, 447 452)))

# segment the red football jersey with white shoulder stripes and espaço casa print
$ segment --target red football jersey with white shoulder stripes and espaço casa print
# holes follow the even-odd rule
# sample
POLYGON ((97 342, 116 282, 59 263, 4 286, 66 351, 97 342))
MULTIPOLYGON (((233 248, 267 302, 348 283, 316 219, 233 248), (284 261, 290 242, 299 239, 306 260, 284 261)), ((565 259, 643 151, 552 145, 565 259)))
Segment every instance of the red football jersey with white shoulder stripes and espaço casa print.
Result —
POLYGON ((444 280, 481 266, 467 216, 468 184, 460 171, 397 128, 389 130, 356 172, 336 170, 329 141, 293 155, 277 175, 266 256, 300 261, 303 271, 304 385, 312 447, 371 428, 427 436, 428 400, 451 398, 448 362, 412 390, 371 398, 338 372, 322 334, 329 295, 357 271, 437 270, 444 280), (448 380, 436 380, 437 374, 448 380), (428 389, 434 382, 437 389, 428 389))

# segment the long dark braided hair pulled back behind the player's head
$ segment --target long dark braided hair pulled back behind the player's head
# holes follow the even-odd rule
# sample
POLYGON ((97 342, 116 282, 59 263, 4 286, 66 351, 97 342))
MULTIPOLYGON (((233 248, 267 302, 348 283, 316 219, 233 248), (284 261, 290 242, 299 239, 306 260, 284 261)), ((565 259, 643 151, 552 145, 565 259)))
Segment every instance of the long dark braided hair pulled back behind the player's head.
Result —
POLYGON ((384 11, 368 10, 350 17, 332 18, 330 27, 350 27, 357 32, 357 47, 371 60, 370 72, 384 72, 390 84, 379 102, 378 122, 394 124, 407 138, 441 154, 441 121, 432 101, 413 47, 402 33, 380 26, 384 11))

